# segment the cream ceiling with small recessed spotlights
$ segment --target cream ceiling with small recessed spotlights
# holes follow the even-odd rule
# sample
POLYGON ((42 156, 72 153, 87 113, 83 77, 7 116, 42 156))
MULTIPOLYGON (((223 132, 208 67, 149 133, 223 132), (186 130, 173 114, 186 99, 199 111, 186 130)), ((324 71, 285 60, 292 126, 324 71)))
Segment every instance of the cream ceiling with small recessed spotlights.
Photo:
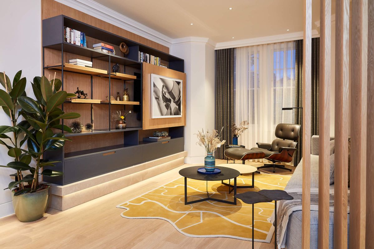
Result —
MULTIPOLYGON (((173 39, 206 37, 220 43, 303 31, 302 0, 95 1, 173 39)), ((316 29, 318 0, 312 13, 316 29)))

